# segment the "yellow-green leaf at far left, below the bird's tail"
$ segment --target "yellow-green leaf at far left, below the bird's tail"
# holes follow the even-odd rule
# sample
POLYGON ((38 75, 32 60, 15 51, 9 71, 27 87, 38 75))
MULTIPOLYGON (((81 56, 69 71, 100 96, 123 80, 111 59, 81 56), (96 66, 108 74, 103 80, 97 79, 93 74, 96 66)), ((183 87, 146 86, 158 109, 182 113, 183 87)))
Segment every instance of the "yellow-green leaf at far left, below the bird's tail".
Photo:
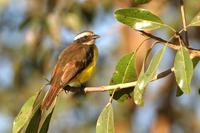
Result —
POLYGON ((13 133, 21 132, 24 126, 30 120, 30 117, 32 115, 32 106, 34 104, 35 99, 36 96, 30 97, 21 108, 21 111, 19 112, 19 114, 17 115, 17 117, 13 122, 13 130, 12 130, 13 133))

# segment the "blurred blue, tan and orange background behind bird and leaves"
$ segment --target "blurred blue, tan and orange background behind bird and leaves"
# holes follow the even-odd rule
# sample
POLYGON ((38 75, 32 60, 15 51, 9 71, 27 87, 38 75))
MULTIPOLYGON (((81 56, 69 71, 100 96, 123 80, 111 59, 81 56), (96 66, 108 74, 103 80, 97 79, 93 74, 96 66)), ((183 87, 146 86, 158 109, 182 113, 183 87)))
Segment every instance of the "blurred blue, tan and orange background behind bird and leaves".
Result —
MULTIPOLYGON (((200 0, 187 0, 187 20, 200 11, 200 0)), ((87 86, 108 85, 117 61, 134 51, 146 38, 114 18, 114 10, 142 7, 181 29, 179 0, 152 0, 136 5, 133 0, 0 0, 0 132, 12 131, 12 122, 24 102, 50 79, 58 54, 84 30, 101 38, 96 44, 99 60, 87 86)), ((200 48, 200 28, 189 30, 191 47, 200 48)), ((172 33, 157 30, 164 39, 172 33)), ((137 54, 137 71, 152 41, 137 54)), ((154 54, 157 45, 150 57, 154 54)), ((173 65, 175 51, 168 49, 158 72, 173 65)), ((152 82, 145 92, 144 107, 130 99, 114 102, 116 133, 199 133, 200 63, 194 71, 192 92, 176 97, 174 75, 152 82)), ((52 117, 49 133, 94 133, 99 113, 109 95, 77 96, 62 93, 52 117)))

